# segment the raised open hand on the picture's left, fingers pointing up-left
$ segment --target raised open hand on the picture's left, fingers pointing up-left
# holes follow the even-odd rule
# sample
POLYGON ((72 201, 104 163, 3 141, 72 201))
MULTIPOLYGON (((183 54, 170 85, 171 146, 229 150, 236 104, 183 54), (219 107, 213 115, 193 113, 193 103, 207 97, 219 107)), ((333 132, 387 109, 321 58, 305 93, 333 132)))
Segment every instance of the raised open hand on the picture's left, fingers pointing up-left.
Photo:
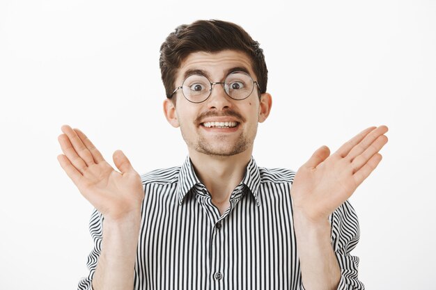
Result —
POLYGON ((114 152, 118 172, 79 129, 64 125, 61 130, 58 139, 63 154, 58 161, 81 194, 104 218, 118 220, 138 214, 144 195, 141 177, 123 152, 114 152))

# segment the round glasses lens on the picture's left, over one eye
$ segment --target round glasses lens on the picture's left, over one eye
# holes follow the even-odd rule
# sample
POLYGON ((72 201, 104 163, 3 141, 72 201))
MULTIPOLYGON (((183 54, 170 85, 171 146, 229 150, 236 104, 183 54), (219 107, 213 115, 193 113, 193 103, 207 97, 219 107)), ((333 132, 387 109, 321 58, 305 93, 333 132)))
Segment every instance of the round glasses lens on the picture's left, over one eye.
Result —
POLYGON ((194 103, 203 102, 210 94, 210 82, 201 74, 188 76, 182 87, 185 97, 194 103))

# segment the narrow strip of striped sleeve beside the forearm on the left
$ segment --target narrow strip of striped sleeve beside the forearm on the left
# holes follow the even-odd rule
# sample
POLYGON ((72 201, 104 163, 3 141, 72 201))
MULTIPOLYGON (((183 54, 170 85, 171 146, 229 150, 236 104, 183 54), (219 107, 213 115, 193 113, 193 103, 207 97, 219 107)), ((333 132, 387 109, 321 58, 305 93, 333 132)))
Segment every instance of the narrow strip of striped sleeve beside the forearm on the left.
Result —
POLYGON ((98 257, 102 252, 102 238, 103 238, 103 216, 97 209, 94 209, 91 219, 89 221, 89 232, 94 241, 94 248, 88 255, 86 266, 88 267, 88 276, 81 278, 77 285, 77 290, 93 290, 92 282, 97 267, 98 257))

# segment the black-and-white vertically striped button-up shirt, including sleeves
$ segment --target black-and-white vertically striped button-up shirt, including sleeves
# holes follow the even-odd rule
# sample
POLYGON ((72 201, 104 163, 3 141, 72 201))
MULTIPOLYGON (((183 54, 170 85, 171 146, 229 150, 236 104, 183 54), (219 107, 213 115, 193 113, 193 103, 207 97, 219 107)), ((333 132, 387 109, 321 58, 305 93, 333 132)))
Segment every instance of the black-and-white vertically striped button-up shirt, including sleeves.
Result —
MULTIPOLYGON (((182 166, 141 176, 145 197, 134 289, 304 289, 290 197, 294 176, 288 169, 260 168, 251 159, 222 215, 189 157, 182 166)), ((89 274, 78 289, 92 289, 102 220, 94 211, 89 274)), ((355 210, 347 201, 329 220, 341 267, 338 289, 364 289, 357 279, 359 259, 350 255, 359 240, 355 210)))

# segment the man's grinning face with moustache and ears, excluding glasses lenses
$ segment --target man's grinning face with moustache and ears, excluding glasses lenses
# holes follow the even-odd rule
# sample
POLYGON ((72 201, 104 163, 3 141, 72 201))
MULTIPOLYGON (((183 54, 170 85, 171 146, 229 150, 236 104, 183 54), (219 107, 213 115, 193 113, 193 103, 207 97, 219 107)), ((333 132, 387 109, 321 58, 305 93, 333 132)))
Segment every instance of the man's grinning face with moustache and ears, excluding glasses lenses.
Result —
MULTIPOLYGON (((257 81, 248 56, 240 51, 220 51, 216 54, 196 52, 182 62, 176 77, 180 86, 186 74, 201 71, 212 82, 224 81, 229 72, 244 68, 257 81)), ((194 104, 178 90, 174 107, 168 99, 164 103, 166 118, 174 126, 180 126, 182 137, 192 150, 214 156, 232 156, 247 152, 251 156, 258 122, 263 122, 270 112, 271 99, 263 94, 259 99, 257 86, 247 99, 231 99, 221 84, 213 86, 205 102, 194 104), (224 122, 224 127, 222 123, 224 122), (249 150, 249 151, 247 151, 249 150)))

